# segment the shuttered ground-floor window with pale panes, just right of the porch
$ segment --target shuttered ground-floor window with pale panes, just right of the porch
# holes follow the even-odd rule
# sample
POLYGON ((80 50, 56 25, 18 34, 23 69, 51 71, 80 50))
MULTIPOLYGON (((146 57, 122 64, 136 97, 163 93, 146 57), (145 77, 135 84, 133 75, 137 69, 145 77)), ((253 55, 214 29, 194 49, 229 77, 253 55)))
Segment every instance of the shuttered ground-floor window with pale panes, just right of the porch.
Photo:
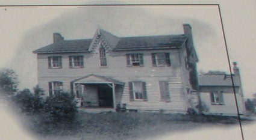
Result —
POLYGON ((147 100, 146 82, 129 82, 130 100, 147 100))

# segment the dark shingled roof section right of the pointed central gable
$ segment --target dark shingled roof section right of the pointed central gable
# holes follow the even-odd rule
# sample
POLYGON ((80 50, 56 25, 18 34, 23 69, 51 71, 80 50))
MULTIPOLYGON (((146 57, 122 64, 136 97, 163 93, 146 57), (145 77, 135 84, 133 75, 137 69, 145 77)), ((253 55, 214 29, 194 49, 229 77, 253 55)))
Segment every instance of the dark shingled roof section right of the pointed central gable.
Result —
POLYGON ((114 50, 173 49, 186 41, 184 35, 158 35, 120 38, 114 50))

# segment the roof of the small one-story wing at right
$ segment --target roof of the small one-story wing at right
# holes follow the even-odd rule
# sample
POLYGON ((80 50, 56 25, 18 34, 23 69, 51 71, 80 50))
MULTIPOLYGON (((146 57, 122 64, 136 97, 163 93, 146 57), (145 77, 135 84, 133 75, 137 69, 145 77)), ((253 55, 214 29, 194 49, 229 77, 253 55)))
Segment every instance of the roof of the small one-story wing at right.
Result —
MULTIPOLYGON (((234 86, 240 86, 239 77, 233 76, 234 86)), ((202 75, 198 76, 200 86, 233 86, 231 76, 225 75, 202 75)))

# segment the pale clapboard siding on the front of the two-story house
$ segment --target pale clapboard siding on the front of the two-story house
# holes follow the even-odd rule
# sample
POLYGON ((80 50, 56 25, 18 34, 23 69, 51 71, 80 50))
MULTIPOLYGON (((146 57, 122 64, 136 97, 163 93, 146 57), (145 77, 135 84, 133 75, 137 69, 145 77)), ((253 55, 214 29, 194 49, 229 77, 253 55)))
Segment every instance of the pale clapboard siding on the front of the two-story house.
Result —
POLYGON ((145 109, 167 111, 186 111, 186 97, 184 94, 184 82, 188 83, 186 68, 184 69, 184 54, 178 49, 172 50, 139 50, 127 52, 107 52, 107 67, 100 67, 99 53, 57 53, 38 54, 39 85, 48 94, 48 82, 63 82, 63 90, 70 91, 70 81, 87 75, 101 75, 114 78, 125 83, 123 90, 116 88, 116 103, 126 103, 128 109, 145 109), (169 52, 170 67, 153 67, 151 53, 169 52), (126 53, 143 53, 143 67, 127 67, 126 53), (84 67, 69 68, 69 56, 83 55, 84 67), (48 68, 48 56, 61 56, 62 68, 48 68), (184 79, 186 78, 186 79, 184 79), (128 82, 144 81, 148 101, 130 102, 128 82), (160 100, 158 81, 168 81, 170 102, 160 100))

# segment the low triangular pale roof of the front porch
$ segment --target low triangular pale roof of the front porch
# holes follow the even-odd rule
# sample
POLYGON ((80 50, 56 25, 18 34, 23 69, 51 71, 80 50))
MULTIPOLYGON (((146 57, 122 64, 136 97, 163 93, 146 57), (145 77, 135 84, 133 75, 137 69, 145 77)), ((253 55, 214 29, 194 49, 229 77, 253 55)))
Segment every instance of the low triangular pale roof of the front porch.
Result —
POLYGON ((124 82, 117 81, 116 79, 106 77, 106 76, 99 76, 99 75, 87 75, 81 78, 75 79, 71 81, 75 84, 118 84, 124 85, 124 82))

